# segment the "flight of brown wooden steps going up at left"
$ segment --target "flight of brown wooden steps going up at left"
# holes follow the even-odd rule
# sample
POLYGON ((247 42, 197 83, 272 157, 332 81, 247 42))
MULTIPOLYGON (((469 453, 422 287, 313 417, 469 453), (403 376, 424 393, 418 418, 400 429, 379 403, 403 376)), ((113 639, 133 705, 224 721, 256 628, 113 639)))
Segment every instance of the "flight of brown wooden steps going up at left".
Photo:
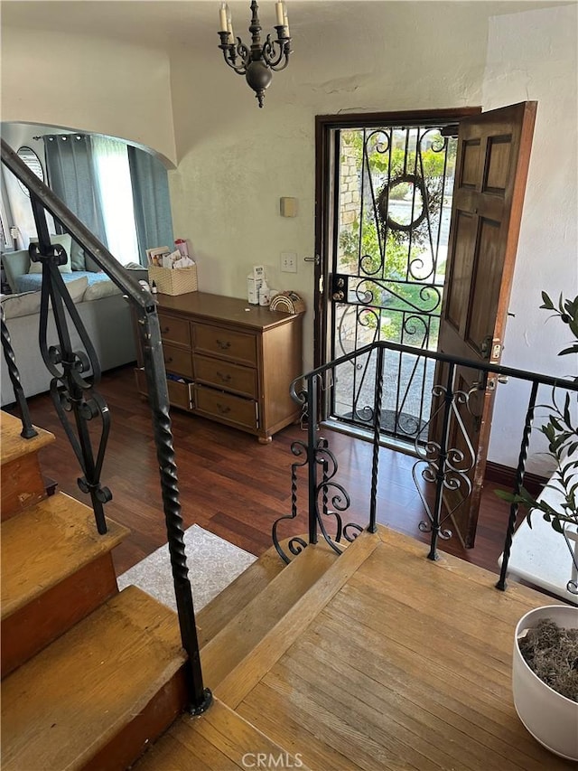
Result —
POLYGON ((186 703, 171 610, 118 592, 111 550, 128 531, 47 496, 38 452, 1 413, 2 767, 124 769, 186 703))

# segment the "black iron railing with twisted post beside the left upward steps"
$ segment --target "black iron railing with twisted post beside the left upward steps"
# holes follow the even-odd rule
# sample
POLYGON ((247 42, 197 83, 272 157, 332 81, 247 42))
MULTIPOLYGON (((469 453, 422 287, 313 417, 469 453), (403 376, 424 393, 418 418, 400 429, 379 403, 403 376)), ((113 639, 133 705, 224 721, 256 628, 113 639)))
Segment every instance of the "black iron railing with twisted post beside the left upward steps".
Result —
MULTIPOLYGON (((90 495, 99 533, 107 531, 104 505, 112 498, 108 488, 103 486, 100 481, 110 429, 110 415, 106 401, 96 390, 101 374, 97 353, 58 269, 59 265, 66 263, 67 254, 60 245, 51 244, 46 212, 50 212, 62 228, 70 233, 72 239, 89 253, 98 267, 122 290, 127 301, 135 310, 136 328, 143 351, 149 405, 152 412, 154 444, 159 464, 163 512, 182 646, 188 653, 185 677, 189 689, 189 710, 193 714, 199 714, 208 709, 212 695, 210 690, 203 685, 200 668, 199 641, 185 554, 177 468, 172 443, 169 396, 154 297, 148 289, 141 286, 135 278, 129 275, 126 268, 70 212, 70 209, 52 193, 50 188, 23 164, 23 161, 5 143, 4 139, 2 140, 2 162, 30 192, 38 235, 38 244, 31 245, 29 249, 30 259, 42 264, 40 350, 42 359, 52 375, 51 399, 82 469, 83 475, 79 478, 79 488, 82 492, 90 495), (47 340, 49 304, 51 304, 59 340, 58 345, 50 346, 47 340), (79 334, 84 351, 72 350, 67 315, 79 334), (69 413, 72 414, 73 421, 69 420, 69 413), (93 449, 89 432, 89 423, 95 418, 100 420, 101 426, 96 451, 93 449)), ((26 424, 24 430, 27 430, 26 426, 32 426, 32 424, 25 400, 23 400, 17 362, 14 359, 14 351, 10 344, 9 331, 4 318, 2 320, 2 344, 6 363, 12 373, 11 381, 14 385, 14 395, 23 414, 23 425, 26 424)))

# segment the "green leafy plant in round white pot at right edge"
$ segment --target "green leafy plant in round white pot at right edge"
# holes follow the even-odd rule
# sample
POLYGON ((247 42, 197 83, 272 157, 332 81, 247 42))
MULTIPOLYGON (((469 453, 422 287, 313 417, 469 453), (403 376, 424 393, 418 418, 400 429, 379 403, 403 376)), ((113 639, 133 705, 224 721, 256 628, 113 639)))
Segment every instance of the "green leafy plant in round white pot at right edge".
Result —
MULTIPOLYGON (((560 296, 555 306, 543 292, 542 300, 540 307, 554 311, 575 339, 559 355, 577 354, 578 296, 573 300, 560 296)), ((560 403, 554 390, 548 408, 550 415, 540 431, 555 462, 554 475, 546 485, 555 491, 555 498, 550 502, 547 496, 536 498, 524 487, 519 494, 497 494, 527 510, 529 527, 532 514, 541 512, 566 540, 578 568, 573 540, 578 526, 578 427, 570 394, 566 392, 560 403)), ((577 589, 576 581, 569 581, 568 591, 575 594, 577 589)), ((578 608, 542 606, 522 616, 514 635, 512 689, 518 717, 532 736, 556 755, 578 761, 578 608)))

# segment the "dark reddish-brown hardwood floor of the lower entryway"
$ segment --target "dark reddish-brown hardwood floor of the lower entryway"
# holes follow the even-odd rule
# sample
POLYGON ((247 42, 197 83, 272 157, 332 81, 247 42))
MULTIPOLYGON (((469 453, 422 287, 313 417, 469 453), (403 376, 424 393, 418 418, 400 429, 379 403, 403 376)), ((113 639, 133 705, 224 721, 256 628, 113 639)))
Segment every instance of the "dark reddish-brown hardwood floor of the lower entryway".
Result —
MULTIPOLYGON (((132 534, 116 550, 121 573, 166 541, 158 465, 147 403, 136 392, 131 366, 107 372, 100 392, 107 400, 112 428, 102 482, 113 493, 107 515, 130 528, 132 534)), ((30 400, 33 422, 51 430, 57 442, 42 451, 42 468, 60 489, 86 501, 77 484, 79 467, 52 408, 48 395, 30 400)), ((172 410, 172 430, 181 491, 184 524, 193 523, 260 555, 271 545, 275 520, 291 511, 291 445, 306 439, 298 427, 285 428, 269 445, 256 437, 172 410)), ((324 430, 339 460, 337 480, 348 490, 351 505, 345 522, 368 522, 371 446, 360 439, 324 430)), ((418 530, 423 506, 411 475, 415 459, 382 448, 378 488, 378 521, 422 541, 418 530)), ((303 469, 301 470, 303 473, 303 469)), ((299 485, 305 511, 305 481, 299 485)), ((465 550, 454 536, 440 547, 481 567, 498 571, 497 559, 508 519, 508 506, 483 492, 476 546, 465 550)), ((286 522, 280 535, 307 530, 304 513, 286 522)))

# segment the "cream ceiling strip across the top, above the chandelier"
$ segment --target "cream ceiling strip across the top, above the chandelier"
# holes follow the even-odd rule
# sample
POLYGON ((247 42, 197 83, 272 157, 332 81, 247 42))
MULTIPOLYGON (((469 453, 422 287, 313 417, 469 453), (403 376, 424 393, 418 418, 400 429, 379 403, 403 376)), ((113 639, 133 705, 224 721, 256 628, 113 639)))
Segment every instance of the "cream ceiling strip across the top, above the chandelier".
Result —
MULTIPOLYGON (((435 0, 440 6, 467 5, 472 14, 482 18, 511 14, 552 5, 575 5, 575 0, 470 0, 452 2, 435 0)), ((217 46, 219 0, 3 0, 2 32, 9 27, 90 34, 122 40, 136 45, 170 49, 175 44, 217 46)), ((322 35, 331 26, 363 26, 364 17, 385 6, 387 17, 404 14, 408 6, 419 6, 413 0, 288 0, 289 23, 294 44, 299 31, 307 30, 307 39, 322 35)), ((430 8, 431 2, 427 2, 430 8)), ((248 42, 249 2, 231 0, 236 34, 248 42)), ((259 15, 266 30, 273 32, 275 7, 273 0, 263 0, 259 15)), ((370 24, 370 22, 368 22, 370 24)))

